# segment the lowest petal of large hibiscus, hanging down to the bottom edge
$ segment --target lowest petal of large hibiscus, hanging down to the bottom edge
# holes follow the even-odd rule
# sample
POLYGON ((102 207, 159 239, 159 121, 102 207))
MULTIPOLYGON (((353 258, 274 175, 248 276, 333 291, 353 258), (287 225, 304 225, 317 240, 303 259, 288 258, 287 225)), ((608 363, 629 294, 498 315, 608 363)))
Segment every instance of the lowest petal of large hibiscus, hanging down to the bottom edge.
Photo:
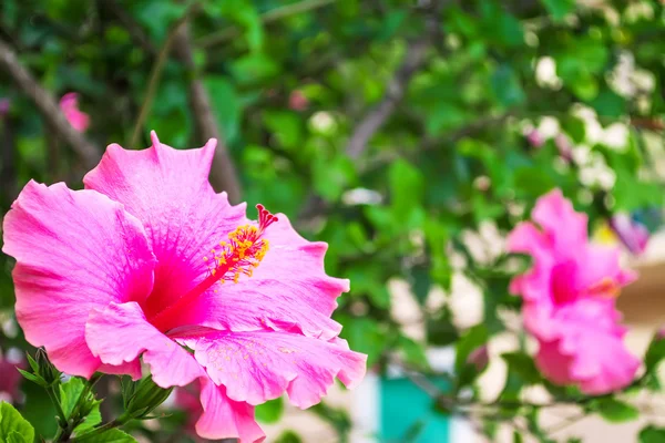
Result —
POLYGON ((226 395, 224 387, 215 385, 207 377, 201 379, 203 414, 196 422, 196 433, 203 439, 241 439, 257 443, 265 434, 254 420, 254 406, 236 402, 226 395))

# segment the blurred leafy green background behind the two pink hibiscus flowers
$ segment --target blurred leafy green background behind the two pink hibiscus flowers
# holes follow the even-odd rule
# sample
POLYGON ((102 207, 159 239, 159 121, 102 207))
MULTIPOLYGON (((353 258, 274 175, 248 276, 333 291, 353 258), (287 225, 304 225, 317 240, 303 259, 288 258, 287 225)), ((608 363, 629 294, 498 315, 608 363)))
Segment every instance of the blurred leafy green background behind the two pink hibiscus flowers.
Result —
MULTIPOLYGON (((549 395, 521 360, 503 239, 553 187, 642 271, 620 299, 631 348, 665 320, 664 42, 657 0, 1 0, 0 214, 30 178, 82 187, 110 143, 216 137, 216 189, 329 243, 328 274, 351 279, 336 319, 369 356, 354 392, 260 406, 268 442, 636 442, 640 421, 574 405, 479 421, 432 396, 549 395), (477 324, 489 368, 460 385, 454 350, 477 324)), ((14 370, 30 347, 12 266, 0 257, 0 395, 51 435, 45 393, 14 370)), ((130 430, 193 441, 186 400, 130 430)))

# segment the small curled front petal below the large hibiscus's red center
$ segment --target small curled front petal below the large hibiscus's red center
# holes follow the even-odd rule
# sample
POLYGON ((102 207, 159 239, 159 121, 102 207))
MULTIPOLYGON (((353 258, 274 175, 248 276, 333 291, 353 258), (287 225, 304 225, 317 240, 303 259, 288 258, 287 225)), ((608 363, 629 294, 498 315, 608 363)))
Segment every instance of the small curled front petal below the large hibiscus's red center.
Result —
POLYGON ((184 387, 205 374, 194 357, 150 324, 136 302, 95 309, 85 339, 104 363, 122 364, 143 353, 153 380, 162 388, 184 387))

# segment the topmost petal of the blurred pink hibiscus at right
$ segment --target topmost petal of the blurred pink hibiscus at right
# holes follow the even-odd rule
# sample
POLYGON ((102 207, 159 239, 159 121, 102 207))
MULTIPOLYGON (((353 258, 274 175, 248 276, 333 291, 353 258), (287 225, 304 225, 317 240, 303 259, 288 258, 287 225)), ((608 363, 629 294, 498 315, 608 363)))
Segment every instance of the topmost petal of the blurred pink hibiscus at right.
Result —
POLYGON ((587 241, 586 214, 576 213, 560 189, 540 197, 531 215, 551 237, 559 257, 571 257, 587 241))

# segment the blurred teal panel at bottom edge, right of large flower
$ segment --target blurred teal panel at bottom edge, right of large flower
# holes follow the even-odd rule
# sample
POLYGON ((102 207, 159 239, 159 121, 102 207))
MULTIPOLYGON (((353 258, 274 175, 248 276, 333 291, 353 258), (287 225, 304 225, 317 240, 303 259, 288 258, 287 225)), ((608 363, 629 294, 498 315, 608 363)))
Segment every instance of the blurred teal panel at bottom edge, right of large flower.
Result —
MULTIPOLYGON (((446 390, 446 382, 431 380, 446 390)), ((432 410, 432 399, 409 379, 381 379, 382 443, 448 443, 450 420, 432 410)))

